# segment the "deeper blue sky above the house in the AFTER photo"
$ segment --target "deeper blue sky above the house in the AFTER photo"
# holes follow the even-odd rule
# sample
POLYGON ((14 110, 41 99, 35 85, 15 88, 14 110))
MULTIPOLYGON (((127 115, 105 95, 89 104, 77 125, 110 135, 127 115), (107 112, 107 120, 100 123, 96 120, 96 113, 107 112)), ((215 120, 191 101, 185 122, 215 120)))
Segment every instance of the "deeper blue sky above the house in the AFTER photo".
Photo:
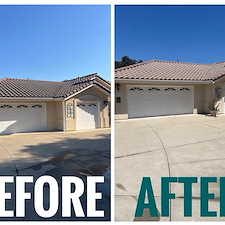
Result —
POLYGON ((225 61, 225 6, 116 6, 116 60, 225 61))

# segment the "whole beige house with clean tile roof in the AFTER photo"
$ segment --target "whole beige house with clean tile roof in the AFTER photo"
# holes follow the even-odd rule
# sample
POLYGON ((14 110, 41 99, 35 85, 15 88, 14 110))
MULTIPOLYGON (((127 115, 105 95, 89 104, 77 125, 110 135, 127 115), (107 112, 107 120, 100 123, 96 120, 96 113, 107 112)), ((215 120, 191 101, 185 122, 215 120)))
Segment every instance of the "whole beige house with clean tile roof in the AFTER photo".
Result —
POLYGON ((208 113, 214 100, 225 113, 225 62, 150 60, 115 71, 115 119, 208 113))

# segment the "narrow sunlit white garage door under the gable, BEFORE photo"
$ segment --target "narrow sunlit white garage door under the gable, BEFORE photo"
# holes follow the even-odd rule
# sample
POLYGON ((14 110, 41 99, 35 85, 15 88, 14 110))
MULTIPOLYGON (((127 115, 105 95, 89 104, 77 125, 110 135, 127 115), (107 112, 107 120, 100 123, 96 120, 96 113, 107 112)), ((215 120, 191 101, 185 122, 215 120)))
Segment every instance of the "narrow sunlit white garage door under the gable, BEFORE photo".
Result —
POLYGON ((94 129, 99 127, 97 103, 77 104, 77 130, 94 129))

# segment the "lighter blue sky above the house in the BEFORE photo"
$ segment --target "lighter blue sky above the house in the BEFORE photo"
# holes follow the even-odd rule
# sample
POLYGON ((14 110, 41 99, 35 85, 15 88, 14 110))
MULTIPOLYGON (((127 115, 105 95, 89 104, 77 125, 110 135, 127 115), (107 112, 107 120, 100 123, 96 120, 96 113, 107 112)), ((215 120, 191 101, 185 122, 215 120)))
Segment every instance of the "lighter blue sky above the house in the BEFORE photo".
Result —
POLYGON ((0 6, 0 78, 110 79, 110 6, 0 6))

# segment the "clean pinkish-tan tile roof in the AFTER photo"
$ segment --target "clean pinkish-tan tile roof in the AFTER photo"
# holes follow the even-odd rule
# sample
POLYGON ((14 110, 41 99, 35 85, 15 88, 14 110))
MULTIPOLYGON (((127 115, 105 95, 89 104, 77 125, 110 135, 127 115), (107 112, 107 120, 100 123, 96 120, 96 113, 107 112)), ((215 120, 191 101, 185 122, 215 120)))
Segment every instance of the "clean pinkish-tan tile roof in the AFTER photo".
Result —
POLYGON ((224 75, 225 62, 198 64, 154 59, 115 70, 116 79, 207 81, 224 75))

